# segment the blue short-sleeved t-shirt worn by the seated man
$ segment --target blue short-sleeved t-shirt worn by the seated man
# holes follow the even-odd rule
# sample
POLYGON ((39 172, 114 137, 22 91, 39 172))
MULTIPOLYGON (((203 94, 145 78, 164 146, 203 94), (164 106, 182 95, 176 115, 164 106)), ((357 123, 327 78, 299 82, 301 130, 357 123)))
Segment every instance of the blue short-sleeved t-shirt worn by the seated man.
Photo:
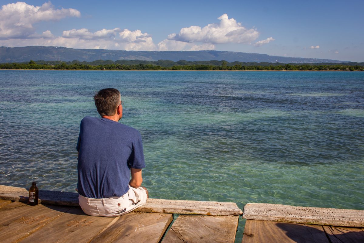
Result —
POLYGON ((77 142, 78 193, 90 198, 120 197, 130 168, 145 168, 138 130, 106 118, 84 117, 77 142))

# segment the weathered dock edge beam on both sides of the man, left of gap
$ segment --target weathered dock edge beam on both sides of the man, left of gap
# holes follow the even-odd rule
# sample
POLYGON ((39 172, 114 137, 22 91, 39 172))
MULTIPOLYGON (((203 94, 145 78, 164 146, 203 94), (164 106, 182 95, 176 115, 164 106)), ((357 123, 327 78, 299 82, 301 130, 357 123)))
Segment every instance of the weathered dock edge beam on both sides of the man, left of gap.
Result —
MULTIPOLYGON (((76 192, 39 190, 39 203, 79 207, 78 195, 76 192)), ((0 199, 27 202, 28 190, 21 187, 0 185, 0 199)), ((154 198, 147 199, 146 204, 134 211, 213 216, 237 216, 243 213, 236 203, 154 198)))

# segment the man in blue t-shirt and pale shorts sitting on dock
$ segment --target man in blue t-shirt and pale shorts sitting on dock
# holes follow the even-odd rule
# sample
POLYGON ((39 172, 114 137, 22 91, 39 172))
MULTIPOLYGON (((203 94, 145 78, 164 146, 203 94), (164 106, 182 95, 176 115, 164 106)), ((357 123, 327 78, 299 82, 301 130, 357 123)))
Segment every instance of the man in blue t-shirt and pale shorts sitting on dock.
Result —
POLYGON ((77 142, 78 199, 88 215, 116 217, 145 204, 148 197, 141 187, 142 137, 118 122, 124 102, 117 89, 102 89, 94 100, 101 118, 84 117, 77 142))

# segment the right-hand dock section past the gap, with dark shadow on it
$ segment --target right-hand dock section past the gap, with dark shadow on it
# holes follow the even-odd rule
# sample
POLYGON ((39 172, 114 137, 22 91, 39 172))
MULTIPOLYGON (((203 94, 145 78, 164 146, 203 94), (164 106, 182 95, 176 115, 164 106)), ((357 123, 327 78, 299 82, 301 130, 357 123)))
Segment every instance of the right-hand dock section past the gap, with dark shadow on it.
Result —
POLYGON ((364 243, 364 210, 248 203, 243 243, 364 243))

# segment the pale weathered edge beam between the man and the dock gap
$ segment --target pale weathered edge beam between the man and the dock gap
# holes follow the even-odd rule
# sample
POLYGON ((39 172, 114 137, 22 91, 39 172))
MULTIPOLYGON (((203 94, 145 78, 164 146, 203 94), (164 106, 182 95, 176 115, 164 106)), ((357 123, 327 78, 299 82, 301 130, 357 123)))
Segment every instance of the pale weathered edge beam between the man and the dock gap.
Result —
POLYGON ((216 216, 236 216, 242 213, 236 203, 215 201, 189 201, 189 200, 166 200, 148 199, 142 207, 135 209, 138 212, 197 214, 216 216))

